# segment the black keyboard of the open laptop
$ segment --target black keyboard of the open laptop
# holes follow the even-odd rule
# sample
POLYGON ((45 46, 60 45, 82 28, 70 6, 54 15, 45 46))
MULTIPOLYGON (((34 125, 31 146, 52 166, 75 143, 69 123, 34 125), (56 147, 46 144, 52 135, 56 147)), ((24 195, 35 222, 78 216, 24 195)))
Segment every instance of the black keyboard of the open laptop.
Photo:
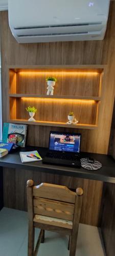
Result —
POLYGON ((65 160, 71 160, 71 161, 77 161, 79 159, 79 156, 73 156, 73 155, 66 155, 63 153, 57 153, 57 152, 48 152, 47 157, 55 158, 55 159, 65 159, 65 160))

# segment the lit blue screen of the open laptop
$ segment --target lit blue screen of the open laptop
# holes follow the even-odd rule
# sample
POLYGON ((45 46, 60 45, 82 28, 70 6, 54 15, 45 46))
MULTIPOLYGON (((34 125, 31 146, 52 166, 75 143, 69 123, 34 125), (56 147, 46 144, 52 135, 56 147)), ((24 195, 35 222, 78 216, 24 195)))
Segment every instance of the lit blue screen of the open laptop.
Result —
POLYGON ((81 134, 51 132, 49 150, 79 153, 80 140, 81 134))

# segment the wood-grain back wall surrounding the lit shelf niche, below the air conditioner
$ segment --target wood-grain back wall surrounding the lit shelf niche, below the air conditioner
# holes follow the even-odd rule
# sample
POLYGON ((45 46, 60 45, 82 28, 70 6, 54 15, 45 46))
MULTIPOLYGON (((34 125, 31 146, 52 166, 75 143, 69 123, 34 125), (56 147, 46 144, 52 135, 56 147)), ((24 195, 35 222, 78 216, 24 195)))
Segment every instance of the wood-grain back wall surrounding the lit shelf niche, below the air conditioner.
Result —
MULTIPOLYGON (((110 4, 109 20, 104 40, 49 42, 39 44, 18 44, 8 26, 8 12, 0 13, 2 51, 2 99, 3 122, 8 116, 8 76, 7 65, 107 65, 104 72, 103 99, 100 104, 99 126, 97 130, 81 130, 82 150, 107 154, 111 117, 115 94, 115 2, 110 4), (106 127, 106 129, 105 129, 106 127), (89 143, 90 142, 90 143, 89 143)), ((52 127, 29 125, 27 143, 48 146, 49 131, 52 127), (45 131, 45 133, 43 133, 45 131), (32 134, 37 136, 32 138, 32 134), (39 135, 43 134, 43 141, 39 135), (37 142, 40 142, 38 144, 37 142)), ((53 127, 53 130, 59 130, 53 127)), ((69 129, 72 131, 72 129, 69 129)), ((76 130, 78 131, 78 130, 76 130)))

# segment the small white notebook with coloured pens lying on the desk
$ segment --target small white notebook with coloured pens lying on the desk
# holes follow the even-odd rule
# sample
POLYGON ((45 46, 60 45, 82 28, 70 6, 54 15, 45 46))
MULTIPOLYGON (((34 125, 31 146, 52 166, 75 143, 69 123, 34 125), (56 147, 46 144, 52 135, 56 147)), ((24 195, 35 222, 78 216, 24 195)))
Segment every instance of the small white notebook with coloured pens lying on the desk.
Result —
POLYGON ((35 162, 35 161, 41 161, 42 158, 39 155, 39 153, 35 151, 28 151, 28 152, 19 152, 21 162, 26 163, 26 162, 35 162))

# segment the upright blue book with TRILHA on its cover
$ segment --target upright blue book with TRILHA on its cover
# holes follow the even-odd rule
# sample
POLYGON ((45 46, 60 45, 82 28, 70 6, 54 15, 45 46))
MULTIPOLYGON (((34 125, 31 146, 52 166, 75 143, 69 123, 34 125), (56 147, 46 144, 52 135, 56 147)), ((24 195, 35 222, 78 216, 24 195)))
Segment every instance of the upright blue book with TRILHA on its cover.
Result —
POLYGON ((16 143, 25 147, 27 124, 4 123, 2 142, 16 143))

